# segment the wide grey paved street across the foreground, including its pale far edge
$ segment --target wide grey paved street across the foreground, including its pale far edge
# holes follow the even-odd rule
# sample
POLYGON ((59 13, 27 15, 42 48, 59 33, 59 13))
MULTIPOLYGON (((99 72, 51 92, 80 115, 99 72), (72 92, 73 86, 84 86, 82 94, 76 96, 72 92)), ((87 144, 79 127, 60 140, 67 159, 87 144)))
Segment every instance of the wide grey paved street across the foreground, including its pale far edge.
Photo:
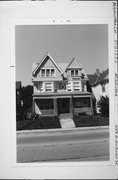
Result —
POLYGON ((109 160, 109 129, 17 134, 17 162, 109 160))

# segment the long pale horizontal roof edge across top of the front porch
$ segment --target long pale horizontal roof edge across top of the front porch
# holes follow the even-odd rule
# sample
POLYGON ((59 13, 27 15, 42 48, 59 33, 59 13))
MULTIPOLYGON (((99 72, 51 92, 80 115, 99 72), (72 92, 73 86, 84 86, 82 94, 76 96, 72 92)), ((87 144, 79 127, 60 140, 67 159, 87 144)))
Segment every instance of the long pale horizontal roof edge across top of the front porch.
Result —
POLYGON ((92 93, 90 92, 45 92, 45 93, 34 93, 33 98, 46 98, 46 97, 71 97, 71 96, 79 96, 79 97, 90 97, 92 93))

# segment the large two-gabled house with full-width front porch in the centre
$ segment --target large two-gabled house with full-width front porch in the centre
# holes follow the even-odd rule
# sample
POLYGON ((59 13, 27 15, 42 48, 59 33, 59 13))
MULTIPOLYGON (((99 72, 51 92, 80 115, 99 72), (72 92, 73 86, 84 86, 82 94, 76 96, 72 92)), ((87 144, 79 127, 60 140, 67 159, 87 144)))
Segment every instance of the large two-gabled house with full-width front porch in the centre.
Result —
POLYGON ((87 91, 88 77, 81 63, 56 63, 47 53, 33 64, 33 111, 40 115, 93 114, 92 93, 87 91))

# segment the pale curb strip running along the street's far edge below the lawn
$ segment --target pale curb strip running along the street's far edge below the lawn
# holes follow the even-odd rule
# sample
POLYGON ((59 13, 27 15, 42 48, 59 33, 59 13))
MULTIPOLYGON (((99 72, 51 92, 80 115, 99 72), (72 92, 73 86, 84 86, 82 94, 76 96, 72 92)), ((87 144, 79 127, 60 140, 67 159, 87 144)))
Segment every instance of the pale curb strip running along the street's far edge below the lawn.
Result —
POLYGON ((84 130, 97 130, 97 129, 108 129, 109 126, 94 126, 94 127, 78 127, 78 128, 70 128, 70 129, 35 129, 35 130, 23 130, 23 131, 17 131, 17 135, 21 134, 33 134, 33 133, 66 133, 66 132, 75 132, 75 131, 84 131, 84 130))

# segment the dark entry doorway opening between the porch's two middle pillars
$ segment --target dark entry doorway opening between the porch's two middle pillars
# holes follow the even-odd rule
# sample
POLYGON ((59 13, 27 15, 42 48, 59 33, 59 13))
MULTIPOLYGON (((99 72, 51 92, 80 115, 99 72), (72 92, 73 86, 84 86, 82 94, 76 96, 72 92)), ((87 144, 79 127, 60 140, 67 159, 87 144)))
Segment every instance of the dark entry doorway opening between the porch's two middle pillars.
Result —
POLYGON ((70 98, 57 99, 58 115, 70 113, 70 98))

